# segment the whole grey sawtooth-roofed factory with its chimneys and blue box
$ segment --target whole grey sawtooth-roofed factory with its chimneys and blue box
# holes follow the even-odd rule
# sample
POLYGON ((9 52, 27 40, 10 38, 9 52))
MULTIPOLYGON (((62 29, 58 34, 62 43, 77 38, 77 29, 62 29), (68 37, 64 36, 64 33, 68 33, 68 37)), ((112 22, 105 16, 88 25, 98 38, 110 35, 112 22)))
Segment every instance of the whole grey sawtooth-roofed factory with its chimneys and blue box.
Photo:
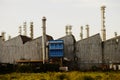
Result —
POLYGON ((86 38, 80 27, 80 39, 76 41, 72 26, 65 27, 66 35, 54 40, 46 34, 46 17, 42 18, 42 36, 34 39, 33 22, 30 36, 27 36, 26 23, 24 35, 21 26, 19 35, 5 40, 5 32, 0 36, 0 63, 42 63, 59 64, 68 70, 91 70, 93 68, 120 70, 120 36, 106 40, 105 6, 101 7, 101 34, 89 36, 86 25, 86 38))

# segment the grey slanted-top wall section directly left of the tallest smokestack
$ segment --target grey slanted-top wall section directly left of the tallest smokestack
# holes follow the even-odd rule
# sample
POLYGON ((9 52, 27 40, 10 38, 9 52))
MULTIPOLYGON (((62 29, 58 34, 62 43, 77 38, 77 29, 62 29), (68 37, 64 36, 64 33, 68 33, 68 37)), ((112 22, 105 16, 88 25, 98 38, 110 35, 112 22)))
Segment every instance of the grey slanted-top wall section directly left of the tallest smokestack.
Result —
POLYGON ((91 69, 102 63, 102 40, 99 34, 76 42, 76 56, 80 69, 91 69))

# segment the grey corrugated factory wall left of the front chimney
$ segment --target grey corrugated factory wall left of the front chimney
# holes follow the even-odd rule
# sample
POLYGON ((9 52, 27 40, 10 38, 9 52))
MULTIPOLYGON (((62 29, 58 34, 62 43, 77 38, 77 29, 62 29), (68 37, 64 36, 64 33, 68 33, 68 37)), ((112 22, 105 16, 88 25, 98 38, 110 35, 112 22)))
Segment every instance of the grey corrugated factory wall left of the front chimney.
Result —
MULTIPOLYGON (((53 38, 47 36, 46 41, 48 40, 53 40, 53 38)), ((23 43, 22 36, 5 41, 0 52, 1 62, 15 63, 20 59, 42 60, 42 37, 23 43)))

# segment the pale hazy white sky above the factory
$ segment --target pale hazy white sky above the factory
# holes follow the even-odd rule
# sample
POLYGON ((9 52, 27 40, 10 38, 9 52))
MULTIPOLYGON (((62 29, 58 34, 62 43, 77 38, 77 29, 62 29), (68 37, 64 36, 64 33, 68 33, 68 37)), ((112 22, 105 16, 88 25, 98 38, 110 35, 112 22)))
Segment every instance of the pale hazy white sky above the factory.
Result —
POLYGON ((120 0, 0 0, 0 32, 15 37, 19 26, 34 22, 34 36, 42 35, 42 17, 47 18, 47 34, 56 38, 65 36, 65 26, 72 25, 72 33, 79 39, 80 26, 90 25, 90 36, 101 32, 101 10, 106 5, 107 38, 120 35, 120 0))

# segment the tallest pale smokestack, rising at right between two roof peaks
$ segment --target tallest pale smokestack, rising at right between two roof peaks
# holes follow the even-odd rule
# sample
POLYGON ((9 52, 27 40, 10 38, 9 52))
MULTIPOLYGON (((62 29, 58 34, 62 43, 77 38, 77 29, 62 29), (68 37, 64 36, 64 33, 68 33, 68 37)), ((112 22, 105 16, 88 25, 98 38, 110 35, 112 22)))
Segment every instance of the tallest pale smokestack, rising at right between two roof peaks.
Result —
POLYGON ((102 40, 106 40, 106 29, 105 29, 105 8, 106 6, 101 6, 101 35, 102 40))

